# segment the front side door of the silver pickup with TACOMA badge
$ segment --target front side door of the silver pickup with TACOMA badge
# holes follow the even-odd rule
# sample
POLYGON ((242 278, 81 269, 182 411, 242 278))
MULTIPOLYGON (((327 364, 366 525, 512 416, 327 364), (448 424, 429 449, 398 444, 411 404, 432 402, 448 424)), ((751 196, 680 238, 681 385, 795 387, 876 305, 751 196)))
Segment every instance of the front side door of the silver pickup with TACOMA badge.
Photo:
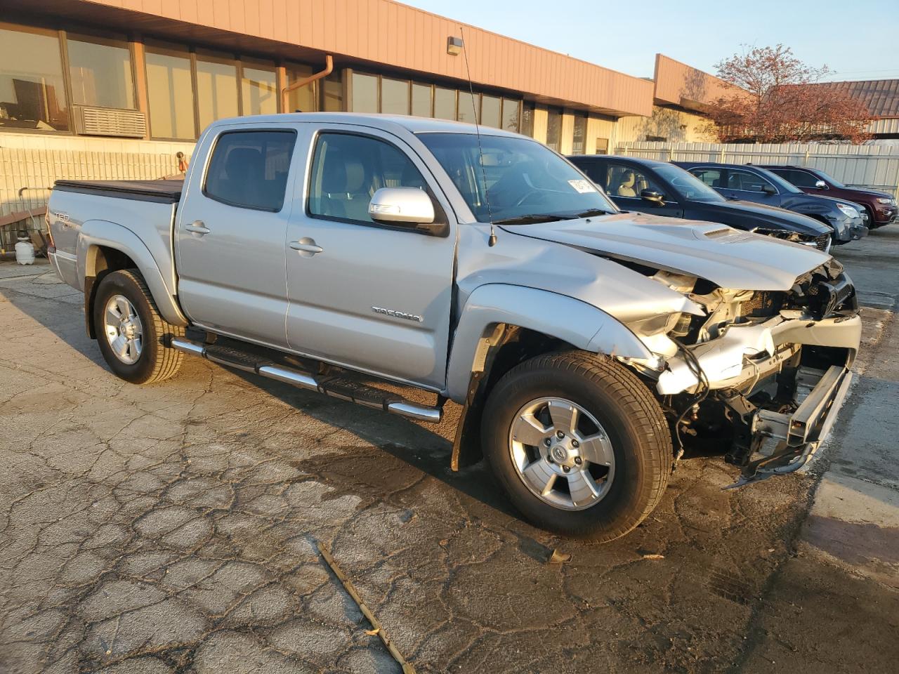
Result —
POLYGON ((402 139, 351 125, 308 127, 305 208, 288 229, 290 348, 440 388, 457 231, 449 203, 402 139), (372 221, 369 200, 382 187, 428 192, 445 235, 372 221))

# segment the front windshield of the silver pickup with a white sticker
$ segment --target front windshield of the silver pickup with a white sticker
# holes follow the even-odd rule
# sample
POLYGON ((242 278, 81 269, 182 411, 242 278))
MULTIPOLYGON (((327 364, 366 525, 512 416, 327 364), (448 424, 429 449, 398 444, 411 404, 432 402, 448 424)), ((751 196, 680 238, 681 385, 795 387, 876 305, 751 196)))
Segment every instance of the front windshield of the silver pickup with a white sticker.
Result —
POLYGON ((535 140, 485 135, 479 147, 475 134, 423 133, 419 138, 478 222, 526 224, 618 212, 596 185, 535 140))

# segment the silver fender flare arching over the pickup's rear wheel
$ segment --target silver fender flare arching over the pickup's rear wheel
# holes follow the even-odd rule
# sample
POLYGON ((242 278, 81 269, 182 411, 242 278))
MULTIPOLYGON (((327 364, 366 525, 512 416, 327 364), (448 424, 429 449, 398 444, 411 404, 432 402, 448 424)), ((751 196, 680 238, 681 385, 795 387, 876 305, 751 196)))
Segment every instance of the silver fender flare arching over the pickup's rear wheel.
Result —
MULTIPOLYGON (((163 318, 173 325, 188 324, 181 307, 165 287, 162 272, 159 270, 153 254, 138 235, 127 227, 107 220, 85 221, 81 226, 81 233, 78 235, 76 249, 78 278, 82 283, 84 283, 84 279, 96 276, 94 269, 96 256, 92 251, 95 246, 112 248, 128 255, 147 282, 147 288, 156 301, 156 306, 163 318)), ((82 289, 86 291, 87 288, 82 289)))

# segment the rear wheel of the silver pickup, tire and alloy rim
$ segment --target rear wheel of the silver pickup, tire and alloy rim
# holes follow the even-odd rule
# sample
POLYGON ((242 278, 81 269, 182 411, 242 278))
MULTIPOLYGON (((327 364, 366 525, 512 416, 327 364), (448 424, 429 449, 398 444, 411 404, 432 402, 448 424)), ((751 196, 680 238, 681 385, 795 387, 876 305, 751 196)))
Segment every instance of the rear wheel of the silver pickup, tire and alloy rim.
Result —
POLYGON ((181 368, 184 354, 165 341, 184 329, 167 323, 138 270, 119 270, 100 281, 93 327, 103 358, 116 376, 133 384, 163 381, 181 368))

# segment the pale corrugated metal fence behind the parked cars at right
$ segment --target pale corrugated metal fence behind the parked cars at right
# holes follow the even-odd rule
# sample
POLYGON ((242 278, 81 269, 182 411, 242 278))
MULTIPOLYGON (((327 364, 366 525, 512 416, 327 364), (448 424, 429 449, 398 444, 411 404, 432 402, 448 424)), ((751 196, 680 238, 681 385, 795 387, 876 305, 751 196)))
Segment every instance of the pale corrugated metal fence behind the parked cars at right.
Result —
POLYGON ((821 169, 850 187, 867 187, 899 196, 899 148, 895 146, 631 141, 619 143, 615 154, 669 162, 795 164, 821 169))

